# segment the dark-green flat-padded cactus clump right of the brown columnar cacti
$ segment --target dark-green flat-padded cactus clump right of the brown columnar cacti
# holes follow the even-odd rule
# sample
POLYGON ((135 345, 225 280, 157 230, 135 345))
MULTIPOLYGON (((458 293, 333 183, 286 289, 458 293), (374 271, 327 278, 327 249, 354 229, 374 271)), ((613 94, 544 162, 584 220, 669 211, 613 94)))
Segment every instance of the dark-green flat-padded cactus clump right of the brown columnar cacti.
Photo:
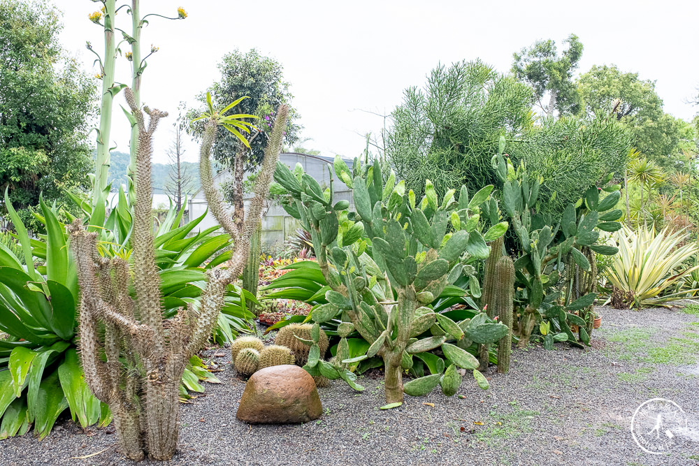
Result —
POLYGON ((590 187, 582 199, 554 217, 539 209, 542 180, 528 177, 526 170, 516 175, 501 154, 503 146, 501 141, 500 154, 493 157, 493 168, 503 182, 503 205, 514 231, 515 249, 520 253, 514 263, 518 290, 514 299, 518 319, 514 326, 519 346, 525 347, 538 330, 547 348, 564 341, 582 347, 579 341, 589 344, 588 322, 576 313, 593 304, 595 286, 577 286, 577 282, 570 281, 576 274, 571 275, 566 269, 575 265, 576 270, 593 273, 593 253, 617 254, 616 247, 598 244, 598 240, 600 231, 621 228, 617 220, 622 212, 614 209, 621 196, 619 185, 607 186, 612 176, 609 175, 603 187, 590 187), (600 199, 600 191, 607 192, 607 196, 600 199), (568 283, 563 283, 566 275, 568 283), (576 296, 568 292, 572 286, 577 291, 585 289, 586 293, 576 296), (570 330, 571 325, 578 326, 577 337, 570 330))

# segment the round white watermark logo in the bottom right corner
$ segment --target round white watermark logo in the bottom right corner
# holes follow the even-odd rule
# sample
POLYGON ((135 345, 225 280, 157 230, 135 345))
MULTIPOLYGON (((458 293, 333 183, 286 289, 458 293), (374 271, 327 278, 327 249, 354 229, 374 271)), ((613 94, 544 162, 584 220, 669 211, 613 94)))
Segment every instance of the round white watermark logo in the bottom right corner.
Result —
POLYGON ((687 418, 677 403, 653 398, 636 408, 631 418, 634 442, 646 453, 668 453, 677 435, 687 432, 687 418))

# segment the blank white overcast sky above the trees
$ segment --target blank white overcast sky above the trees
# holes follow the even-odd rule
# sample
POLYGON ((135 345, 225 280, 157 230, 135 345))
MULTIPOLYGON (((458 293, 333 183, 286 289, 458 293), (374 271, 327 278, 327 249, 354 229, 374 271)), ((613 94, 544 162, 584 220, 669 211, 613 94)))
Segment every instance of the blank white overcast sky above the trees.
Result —
MULTIPOLYGON (((96 73, 85 41, 103 49, 101 27, 87 19, 100 4, 55 1, 64 11, 63 45, 96 73)), ((424 85, 426 74, 440 62, 480 57, 498 71, 508 71, 512 52, 538 39, 552 38, 561 45, 571 33, 585 47, 579 71, 617 64, 622 71, 657 80, 665 111, 675 117, 691 119, 699 110, 686 103, 699 85, 699 2, 693 0, 140 3, 143 14, 175 16, 178 6, 189 14, 182 21, 149 18, 143 43, 160 50, 143 75, 144 103, 173 115, 178 102, 194 104, 194 96, 217 80, 216 66, 226 52, 257 48, 284 66, 292 105, 305 127, 302 137, 310 138, 305 147, 329 156, 361 154, 362 135, 383 125, 381 117, 361 110, 389 114, 401 102, 403 89, 424 85)), ((116 25, 130 32, 125 8, 116 25)), ((117 81, 130 83, 129 65, 123 57, 117 61, 117 81)), ((124 104, 122 99, 120 94, 117 103, 124 104)), ((167 163, 173 120, 164 119, 156 133, 155 162, 167 163)), ((129 126, 118 105, 112 139, 118 150, 128 151, 129 126)), ((190 143, 187 149, 185 159, 195 161, 197 146, 190 143)))

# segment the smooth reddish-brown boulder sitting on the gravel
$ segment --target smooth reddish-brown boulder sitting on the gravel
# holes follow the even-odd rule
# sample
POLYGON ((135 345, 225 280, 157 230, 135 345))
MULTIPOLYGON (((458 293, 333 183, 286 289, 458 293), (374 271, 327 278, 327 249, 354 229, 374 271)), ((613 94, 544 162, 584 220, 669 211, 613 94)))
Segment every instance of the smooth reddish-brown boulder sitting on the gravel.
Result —
POLYGON ((313 377, 297 365, 273 365, 247 381, 236 417, 250 424, 298 424, 320 417, 313 377))

